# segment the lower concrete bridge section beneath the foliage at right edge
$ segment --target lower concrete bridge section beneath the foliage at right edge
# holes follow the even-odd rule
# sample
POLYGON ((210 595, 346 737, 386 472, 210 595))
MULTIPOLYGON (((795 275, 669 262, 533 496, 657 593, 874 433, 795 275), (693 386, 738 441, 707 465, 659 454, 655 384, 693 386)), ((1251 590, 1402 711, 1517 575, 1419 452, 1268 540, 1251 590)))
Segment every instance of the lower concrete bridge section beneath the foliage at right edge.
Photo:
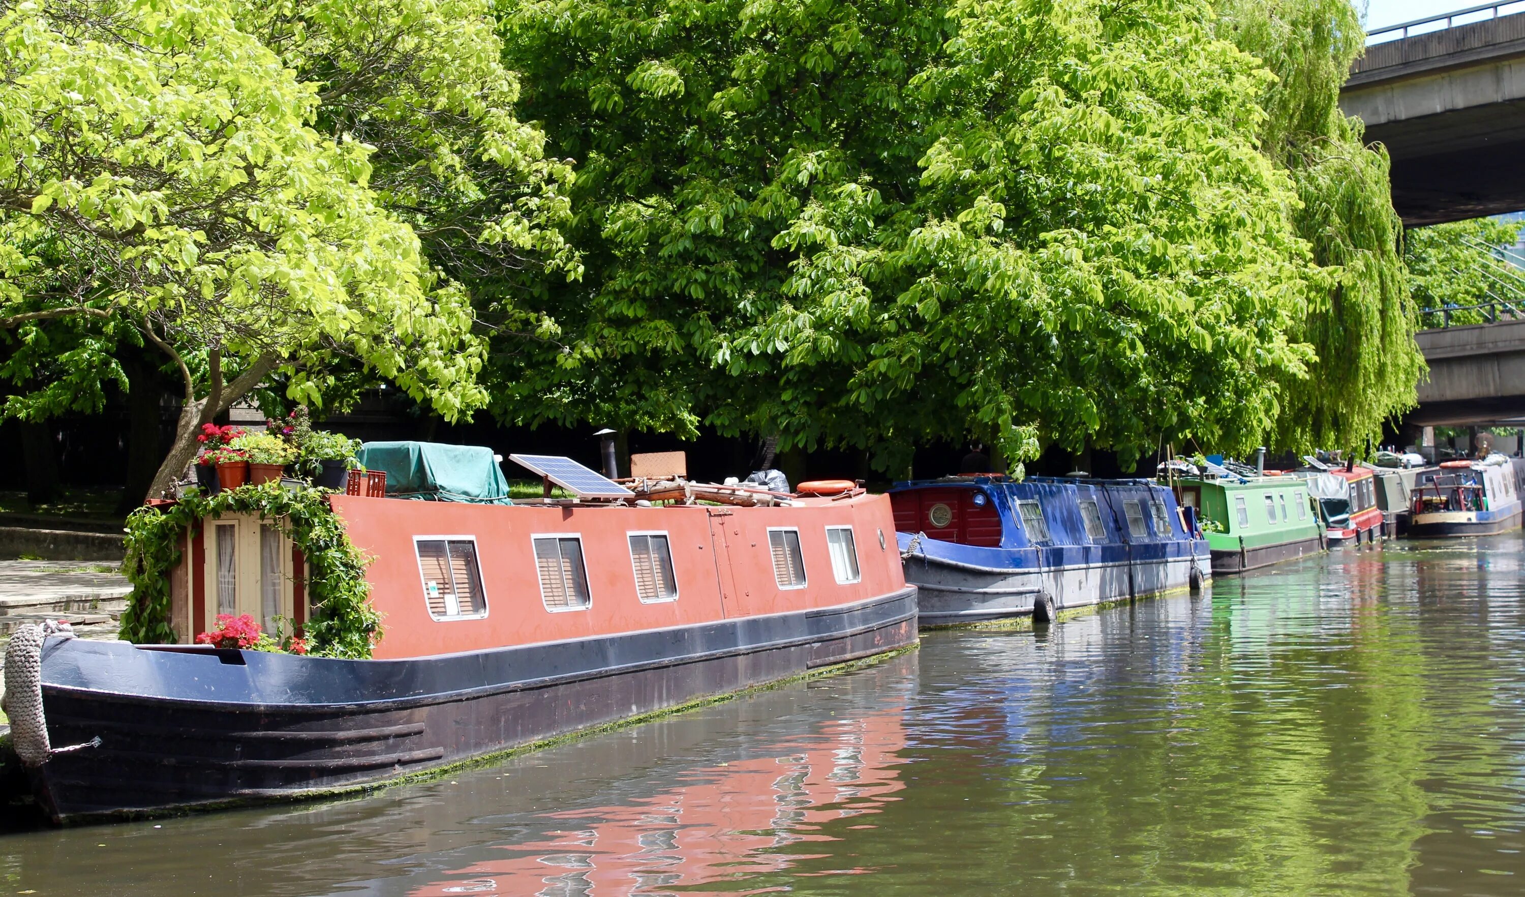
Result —
POLYGON ((1525 418, 1525 314, 1496 305, 1491 317, 1490 323, 1438 326, 1415 334, 1430 375, 1420 383, 1420 407, 1405 415, 1406 424, 1461 426, 1525 418))

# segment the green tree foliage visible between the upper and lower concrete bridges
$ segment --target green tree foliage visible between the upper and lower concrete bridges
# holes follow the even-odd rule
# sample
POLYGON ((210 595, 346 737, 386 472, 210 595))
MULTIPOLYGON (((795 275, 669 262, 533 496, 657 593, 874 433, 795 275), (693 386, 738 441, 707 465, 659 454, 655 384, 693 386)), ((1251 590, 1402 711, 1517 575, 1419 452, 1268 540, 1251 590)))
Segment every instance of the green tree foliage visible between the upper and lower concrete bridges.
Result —
MULTIPOLYGON (((1405 235, 1403 262, 1409 270, 1414 302, 1424 308, 1455 308, 1452 323, 1481 323, 1484 313, 1469 305, 1504 301, 1519 305, 1525 299, 1525 278, 1504 261, 1494 247, 1513 246, 1519 221, 1475 218, 1432 227, 1415 227, 1405 235)), ((1424 323, 1440 326, 1440 314, 1424 316, 1424 323)))

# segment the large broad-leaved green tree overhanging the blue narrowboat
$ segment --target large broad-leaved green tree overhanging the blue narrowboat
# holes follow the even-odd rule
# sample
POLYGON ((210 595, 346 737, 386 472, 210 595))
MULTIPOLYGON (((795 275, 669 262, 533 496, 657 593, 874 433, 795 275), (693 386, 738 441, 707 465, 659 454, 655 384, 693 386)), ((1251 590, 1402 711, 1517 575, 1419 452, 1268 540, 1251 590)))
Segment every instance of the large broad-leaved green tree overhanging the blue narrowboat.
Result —
POLYGON ((512 0, 584 282, 494 366, 525 420, 1138 456, 1255 444, 1324 275, 1197 3, 512 0), (720 374, 726 374, 721 377, 720 374))

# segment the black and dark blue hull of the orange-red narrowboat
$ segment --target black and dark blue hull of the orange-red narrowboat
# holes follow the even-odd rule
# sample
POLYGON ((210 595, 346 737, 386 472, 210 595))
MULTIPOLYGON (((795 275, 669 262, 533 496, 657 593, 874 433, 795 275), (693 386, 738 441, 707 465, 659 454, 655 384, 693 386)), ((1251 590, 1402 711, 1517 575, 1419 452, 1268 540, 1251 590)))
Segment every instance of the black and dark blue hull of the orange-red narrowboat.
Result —
POLYGON ((320 796, 915 641, 913 586, 825 610, 415 661, 50 641, 52 743, 102 743, 53 757, 34 780, 55 822, 320 796))

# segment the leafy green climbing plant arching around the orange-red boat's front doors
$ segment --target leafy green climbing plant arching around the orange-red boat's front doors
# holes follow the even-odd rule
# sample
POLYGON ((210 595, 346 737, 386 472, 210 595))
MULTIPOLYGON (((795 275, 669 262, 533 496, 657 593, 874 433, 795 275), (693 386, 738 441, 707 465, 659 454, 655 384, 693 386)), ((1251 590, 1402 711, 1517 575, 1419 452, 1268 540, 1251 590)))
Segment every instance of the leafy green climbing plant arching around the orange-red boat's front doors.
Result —
POLYGON ((206 517, 259 514, 271 520, 307 558, 307 593, 313 607, 303 625, 308 653, 369 657, 381 638, 381 615, 371 606, 366 557, 345 532, 317 488, 278 484, 244 485, 215 496, 192 494, 175 505, 145 506, 127 519, 122 569, 133 596, 122 615, 122 638, 137 644, 177 641, 169 625, 169 571, 180 563, 180 534, 206 517))

